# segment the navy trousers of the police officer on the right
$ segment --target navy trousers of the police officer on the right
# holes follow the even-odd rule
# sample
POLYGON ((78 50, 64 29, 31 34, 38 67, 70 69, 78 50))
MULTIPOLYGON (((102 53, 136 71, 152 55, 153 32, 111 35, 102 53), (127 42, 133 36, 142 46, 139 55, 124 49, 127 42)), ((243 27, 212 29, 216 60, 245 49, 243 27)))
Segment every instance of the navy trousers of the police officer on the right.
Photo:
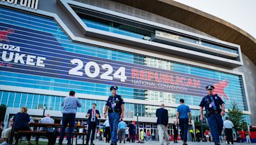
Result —
POLYGON ((223 128, 223 120, 218 113, 211 114, 207 117, 208 125, 211 129, 213 142, 220 142, 221 130, 223 128))

